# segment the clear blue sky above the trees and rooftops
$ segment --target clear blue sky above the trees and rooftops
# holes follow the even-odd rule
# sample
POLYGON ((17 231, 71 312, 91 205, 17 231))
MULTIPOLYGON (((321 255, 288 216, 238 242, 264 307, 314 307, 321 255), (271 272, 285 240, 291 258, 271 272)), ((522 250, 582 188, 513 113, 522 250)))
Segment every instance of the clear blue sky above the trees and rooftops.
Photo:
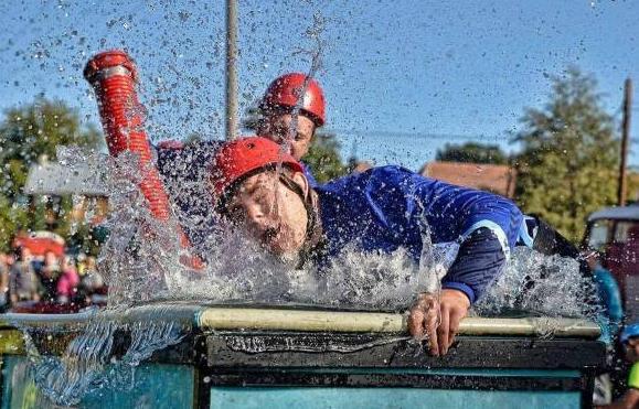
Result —
MULTIPOLYGON (((417 170, 444 143, 465 140, 516 149, 508 132, 518 129, 524 107, 547 100, 550 76, 571 65, 596 76, 616 118, 624 79, 639 82, 633 1, 239 3, 242 107, 277 75, 309 71, 303 51, 313 50, 308 33, 315 30, 322 42, 317 76, 327 94, 329 127, 339 130, 344 155, 354 148, 377 164, 417 170)), ((153 140, 194 131, 220 138, 223 6, 2 1, 0 108, 43 93, 97 122, 82 67, 100 50, 126 47, 142 73, 153 140)), ((639 134, 639 120, 632 134, 639 134)), ((639 148, 630 164, 639 165, 639 148)))

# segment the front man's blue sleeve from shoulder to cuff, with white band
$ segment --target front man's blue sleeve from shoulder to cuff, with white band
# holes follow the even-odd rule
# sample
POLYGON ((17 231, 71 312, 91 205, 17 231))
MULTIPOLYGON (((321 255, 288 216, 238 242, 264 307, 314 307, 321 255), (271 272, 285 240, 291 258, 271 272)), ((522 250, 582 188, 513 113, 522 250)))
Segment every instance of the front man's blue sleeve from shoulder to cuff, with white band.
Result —
POLYGON ((424 224, 434 244, 459 243, 444 288, 465 292, 471 302, 481 297, 503 270, 519 238, 523 215, 515 204, 401 168, 377 168, 368 175, 366 208, 384 227, 383 237, 407 246, 417 259, 424 224))

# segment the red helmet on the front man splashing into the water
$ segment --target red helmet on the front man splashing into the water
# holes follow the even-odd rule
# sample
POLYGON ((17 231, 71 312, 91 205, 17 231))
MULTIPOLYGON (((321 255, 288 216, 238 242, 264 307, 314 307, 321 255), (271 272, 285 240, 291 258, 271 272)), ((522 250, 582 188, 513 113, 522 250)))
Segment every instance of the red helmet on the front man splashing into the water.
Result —
POLYGON ((215 198, 222 197, 242 176, 274 163, 302 172, 299 162, 283 152, 281 147, 270 139, 251 137, 224 143, 213 158, 212 182, 215 198))

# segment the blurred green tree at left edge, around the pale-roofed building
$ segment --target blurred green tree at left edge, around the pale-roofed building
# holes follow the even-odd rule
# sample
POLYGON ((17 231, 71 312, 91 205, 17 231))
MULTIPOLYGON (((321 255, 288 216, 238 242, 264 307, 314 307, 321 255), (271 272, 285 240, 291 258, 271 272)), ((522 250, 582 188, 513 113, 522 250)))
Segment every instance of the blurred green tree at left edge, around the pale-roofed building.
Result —
POLYGON ((32 201, 23 194, 29 169, 42 158, 55 160, 61 146, 97 149, 103 144, 100 132, 83 126, 76 110, 62 101, 38 98, 32 104, 10 108, 0 121, 0 249, 7 250, 20 229, 52 227, 66 236, 71 208, 68 197, 32 201), (51 224, 47 213, 61 217, 51 224))

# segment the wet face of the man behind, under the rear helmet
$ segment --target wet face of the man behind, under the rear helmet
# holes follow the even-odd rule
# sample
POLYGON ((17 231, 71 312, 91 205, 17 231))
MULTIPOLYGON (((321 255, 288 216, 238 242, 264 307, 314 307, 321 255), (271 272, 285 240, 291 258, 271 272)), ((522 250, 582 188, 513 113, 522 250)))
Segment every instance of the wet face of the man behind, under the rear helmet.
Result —
POLYGON ((258 133, 271 141, 290 146, 290 154, 296 160, 301 160, 310 148, 315 133, 315 122, 305 115, 297 116, 297 129, 292 129, 292 115, 275 114, 266 118, 258 130, 258 133))

